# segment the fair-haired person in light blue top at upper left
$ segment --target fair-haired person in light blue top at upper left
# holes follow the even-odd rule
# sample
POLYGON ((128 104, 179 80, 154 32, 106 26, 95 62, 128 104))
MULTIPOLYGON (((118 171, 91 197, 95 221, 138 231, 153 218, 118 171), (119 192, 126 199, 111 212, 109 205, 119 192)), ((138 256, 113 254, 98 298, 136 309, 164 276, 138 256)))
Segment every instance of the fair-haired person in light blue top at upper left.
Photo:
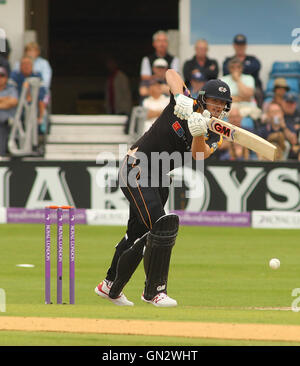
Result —
MULTIPOLYGON (((30 42, 25 46, 24 55, 31 57, 33 60, 33 72, 40 73, 47 92, 51 87, 52 68, 49 62, 40 56, 41 49, 38 43, 30 42)), ((20 62, 17 62, 13 68, 15 71, 20 71, 20 62)))

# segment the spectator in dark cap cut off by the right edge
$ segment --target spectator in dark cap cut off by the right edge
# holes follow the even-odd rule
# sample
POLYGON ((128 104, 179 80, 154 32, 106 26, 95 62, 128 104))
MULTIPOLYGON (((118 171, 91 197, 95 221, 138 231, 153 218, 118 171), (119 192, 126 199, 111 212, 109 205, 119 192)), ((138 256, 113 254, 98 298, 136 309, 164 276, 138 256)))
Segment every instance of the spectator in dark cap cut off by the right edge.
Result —
POLYGON ((297 144, 293 145, 288 156, 289 159, 300 157, 300 111, 298 107, 298 96, 294 93, 286 93, 284 96, 284 119, 290 130, 297 134, 297 144))

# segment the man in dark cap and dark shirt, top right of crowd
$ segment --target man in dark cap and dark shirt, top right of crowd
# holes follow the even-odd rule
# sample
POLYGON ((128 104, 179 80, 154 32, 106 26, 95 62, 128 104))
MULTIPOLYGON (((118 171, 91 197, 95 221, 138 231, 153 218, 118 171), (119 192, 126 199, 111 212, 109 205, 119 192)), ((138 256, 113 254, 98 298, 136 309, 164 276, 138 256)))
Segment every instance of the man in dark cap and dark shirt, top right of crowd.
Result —
POLYGON ((233 39, 234 55, 227 57, 223 62, 223 75, 228 75, 229 61, 233 58, 237 58, 242 62, 243 74, 251 75, 255 80, 255 99, 257 105, 261 108, 263 102, 263 87, 259 77, 261 68, 260 61, 251 55, 247 55, 247 38, 243 34, 237 34, 233 39))

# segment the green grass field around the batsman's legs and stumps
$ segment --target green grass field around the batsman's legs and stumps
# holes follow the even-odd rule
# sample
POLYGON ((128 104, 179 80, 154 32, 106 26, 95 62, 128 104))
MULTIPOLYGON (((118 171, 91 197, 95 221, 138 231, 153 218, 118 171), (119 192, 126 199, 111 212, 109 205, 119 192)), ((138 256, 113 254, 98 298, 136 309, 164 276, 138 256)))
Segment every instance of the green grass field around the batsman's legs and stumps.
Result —
MULTIPOLYGON (((68 301, 68 240, 64 230, 64 301, 68 301)), ((56 245, 55 228, 52 229, 56 245)), ((95 295, 123 227, 76 226, 76 305, 44 304, 43 225, 0 225, 1 316, 145 319, 300 325, 300 312, 254 310, 291 307, 300 288, 297 230, 181 227, 173 249, 168 293, 178 307, 158 309, 141 301, 143 265, 124 292, 134 307, 117 307, 95 295), (281 261, 278 270, 268 262, 281 261), (17 264, 34 264, 34 268, 17 264)), ((52 301, 56 297, 56 250, 52 251, 52 301)), ((298 295, 299 296, 299 295, 298 295)), ((298 306, 300 306, 300 301, 298 306)), ((234 341, 180 337, 1 331, 0 345, 300 345, 296 342, 234 341)))

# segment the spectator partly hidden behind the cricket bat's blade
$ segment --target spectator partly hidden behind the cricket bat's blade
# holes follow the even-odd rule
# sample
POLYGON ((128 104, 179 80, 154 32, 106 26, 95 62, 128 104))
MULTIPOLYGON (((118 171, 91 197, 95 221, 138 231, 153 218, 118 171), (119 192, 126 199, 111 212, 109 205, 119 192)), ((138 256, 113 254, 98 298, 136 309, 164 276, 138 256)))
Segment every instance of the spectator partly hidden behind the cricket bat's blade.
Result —
MULTIPOLYGON (((228 121, 237 127, 241 127, 242 116, 238 108, 231 108, 228 121)), ((219 158, 220 160, 248 160, 255 159, 256 155, 252 154, 246 147, 223 138, 223 143, 219 147, 219 158)))

